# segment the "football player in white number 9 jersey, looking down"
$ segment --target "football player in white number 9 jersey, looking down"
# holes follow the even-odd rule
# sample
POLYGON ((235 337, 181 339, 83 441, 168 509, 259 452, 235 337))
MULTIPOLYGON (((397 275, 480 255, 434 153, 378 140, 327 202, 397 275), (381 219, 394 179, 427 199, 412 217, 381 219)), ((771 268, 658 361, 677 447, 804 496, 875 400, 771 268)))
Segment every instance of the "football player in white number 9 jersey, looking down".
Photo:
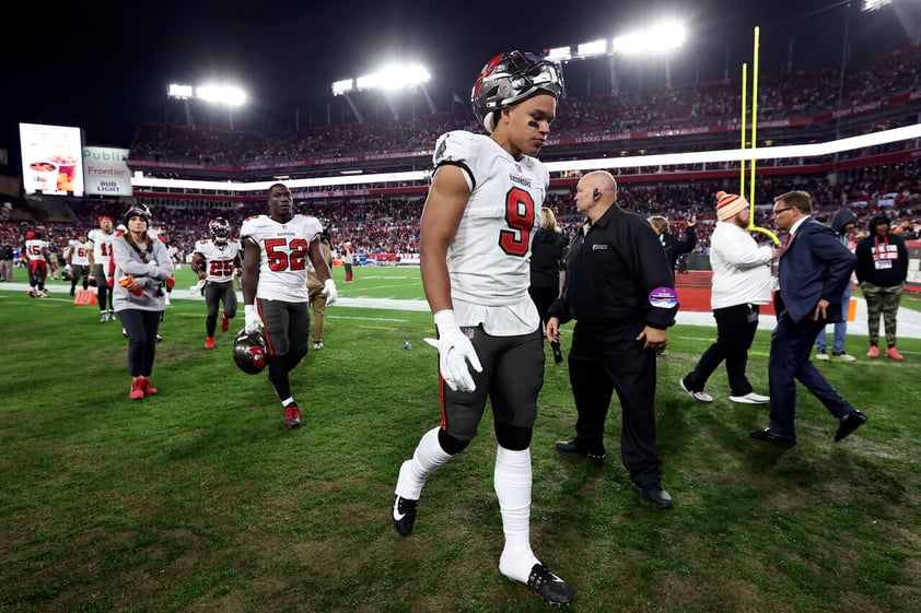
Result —
POLYGON ((441 425, 399 470, 393 523, 412 531, 425 480, 477 434, 487 398, 498 441, 493 484, 505 545, 499 571, 548 602, 574 591, 531 549, 531 438, 544 384, 540 316, 528 294, 531 239, 550 178, 535 157, 563 92, 559 67, 521 51, 496 56, 474 85, 490 135, 442 134, 420 222, 422 284, 434 314, 441 425))

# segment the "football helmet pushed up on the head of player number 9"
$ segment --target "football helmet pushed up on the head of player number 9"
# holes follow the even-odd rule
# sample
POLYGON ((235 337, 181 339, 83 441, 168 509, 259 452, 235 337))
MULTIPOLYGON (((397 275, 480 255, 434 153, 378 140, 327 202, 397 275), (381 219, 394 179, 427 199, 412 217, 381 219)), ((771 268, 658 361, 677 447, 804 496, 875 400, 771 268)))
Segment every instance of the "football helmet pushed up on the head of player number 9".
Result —
POLYGON ((496 111, 539 93, 560 99, 563 94, 563 74, 559 64, 537 54, 508 51, 499 54, 482 67, 474 83, 470 103, 474 115, 491 134, 496 127, 496 111))

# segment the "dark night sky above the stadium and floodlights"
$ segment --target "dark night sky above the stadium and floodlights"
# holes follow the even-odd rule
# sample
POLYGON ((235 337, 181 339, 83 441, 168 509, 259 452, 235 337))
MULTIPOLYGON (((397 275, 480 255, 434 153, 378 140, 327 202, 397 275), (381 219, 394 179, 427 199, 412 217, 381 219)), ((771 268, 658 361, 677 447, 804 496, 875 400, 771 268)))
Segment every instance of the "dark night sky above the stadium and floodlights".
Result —
MULTIPOLYGON (((792 43, 794 70, 838 64, 846 3, 839 0, 592 0, 502 3, 468 0, 226 2, 84 2, 72 16, 54 9, 43 27, 21 33, 3 62, 0 149, 19 175, 19 122, 83 128, 85 144, 128 148, 142 121, 182 122, 167 101, 170 82, 223 78, 241 84, 250 104, 235 126, 302 126, 325 115, 329 84, 372 71, 387 54, 424 63, 435 103, 452 93, 467 99, 480 67, 513 48, 549 47, 610 37, 657 16, 689 24, 691 38, 673 60, 673 82, 731 78, 750 62, 753 32, 761 28, 761 71, 777 74, 792 43), (143 4, 141 8, 140 4, 143 4), (371 8, 368 5, 371 4, 371 8), (270 123, 271 121, 271 123, 270 123)), ((854 54, 909 44, 891 9, 872 17, 852 13, 854 54)), ((14 24, 10 24, 14 25, 14 24)), ((607 62, 567 69, 567 84, 584 93, 591 72, 607 62)), ((597 76, 593 75, 597 82, 597 76)), ((339 101, 341 102, 341 101, 339 101)), ((203 113, 203 110, 201 110, 203 113)), ((221 111, 224 113, 224 111, 221 111)), ((217 115, 218 111, 214 111, 217 115)), ((225 117, 223 115, 222 117, 225 117)), ((224 119, 223 127, 226 127, 224 119)), ((215 120, 217 127, 217 120, 215 120)))

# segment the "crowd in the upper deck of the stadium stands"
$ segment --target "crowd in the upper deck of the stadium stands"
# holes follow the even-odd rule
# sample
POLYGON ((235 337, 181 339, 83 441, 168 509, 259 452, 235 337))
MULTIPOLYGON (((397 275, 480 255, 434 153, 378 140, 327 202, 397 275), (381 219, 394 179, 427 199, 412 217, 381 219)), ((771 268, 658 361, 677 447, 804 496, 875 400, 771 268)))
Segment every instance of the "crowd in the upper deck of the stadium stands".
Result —
MULTIPOLYGON (((816 117, 836 109, 879 102, 921 91, 921 47, 877 58, 846 75, 839 68, 763 79, 759 87, 759 121, 816 117)), ((571 94, 560 103, 555 138, 619 133, 738 121, 742 94, 735 82, 655 89, 617 95, 571 94)), ((893 121, 893 127, 898 121, 893 121)), ((401 118, 369 117, 291 131, 248 132, 144 123, 131 144, 129 160, 168 161, 238 167, 259 163, 335 160, 342 156, 419 152, 431 149, 447 130, 481 131, 465 111, 401 118)), ((881 129, 878 126, 874 130, 881 129)), ((650 152, 654 153, 654 152, 650 152)))

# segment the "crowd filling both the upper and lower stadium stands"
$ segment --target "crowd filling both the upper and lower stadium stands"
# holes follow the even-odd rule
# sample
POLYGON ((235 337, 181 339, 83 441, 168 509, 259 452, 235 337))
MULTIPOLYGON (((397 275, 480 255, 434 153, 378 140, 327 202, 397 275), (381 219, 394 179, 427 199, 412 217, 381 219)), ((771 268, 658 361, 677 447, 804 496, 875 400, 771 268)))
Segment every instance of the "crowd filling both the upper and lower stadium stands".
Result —
MULTIPOLYGON (((758 113, 762 120, 812 117, 832 109, 847 108, 867 102, 878 102, 888 96, 921 92, 921 47, 877 58, 858 67, 846 75, 841 86, 838 68, 786 74, 781 79, 765 79, 759 90, 758 113)), ((439 134, 452 129, 478 131, 480 128, 466 106, 460 111, 431 114, 399 121, 371 117, 365 123, 342 123, 314 127, 289 132, 247 132, 234 130, 193 129, 184 126, 144 123, 139 128, 131 145, 130 160, 156 160, 228 167, 247 164, 276 163, 282 160, 335 158, 346 155, 420 152, 430 149, 439 134), (469 117, 468 117, 469 116, 469 117)), ((620 95, 569 95, 561 102, 555 137, 618 133, 632 128, 643 130, 678 127, 713 126, 734 122, 738 118, 741 93, 737 84, 708 83, 698 86, 675 86, 642 93, 620 95)), ((877 131, 901 125, 906 117, 868 120, 863 128, 877 131)), ((917 122, 917 117, 911 120, 917 122)), ((678 141, 680 142, 680 140, 678 141)), ((683 151, 706 146, 687 145, 683 151)), ((872 150, 846 152, 841 158, 862 157, 893 152, 907 146, 918 149, 917 142, 899 142, 872 150)), ((671 151, 674 151, 674 145, 671 151)), ((665 145, 663 145, 665 151, 665 145)), ((654 149, 646 153, 656 153, 654 149)), ((781 160, 778 166, 815 163, 804 160, 781 160)), ((734 167, 737 163, 726 163, 734 167)), ((699 167, 672 166, 668 173, 700 170, 699 167)), ((638 169, 618 170, 618 175, 636 175, 638 169)), ((737 186, 725 180, 663 179, 656 184, 620 186, 619 203, 637 213, 649 216, 664 215, 672 222, 672 232, 681 234, 685 220, 692 213, 698 219, 698 251, 709 249, 709 236, 715 223, 713 199, 722 189, 737 191, 737 186)), ((854 208, 861 219, 879 211, 888 211, 893 227, 917 238, 921 231, 921 164, 890 164, 881 168, 861 168, 839 173, 839 179, 829 182, 826 176, 794 176, 782 179, 759 180, 755 187, 755 225, 771 227, 769 217, 771 199, 791 189, 809 191, 819 211, 818 217, 830 217, 839 207, 854 208)), ((396 254, 411 256, 418 252, 419 217, 424 196, 355 198, 336 202, 318 202, 306 193, 295 192, 302 201, 303 212, 330 221, 334 245, 351 243, 359 254, 396 254)), ((163 228, 165 240, 180 251, 190 254, 197 240, 207 238, 209 220, 225 217, 238 228, 252 214, 265 212, 265 203, 218 202, 207 198, 162 200, 150 203, 154 225, 163 228)), ((575 213, 571 192, 552 190, 547 204, 555 210, 562 228, 572 233, 581 223, 575 213)), ((67 241, 80 232, 96 227, 100 215, 119 220, 127 203, 110 200, 82 199, 71 203, 71 222, 43 222, 53 245, 61 252, 67 241)), ((0 240, 19 246, 36 222, 0 220, 0 240)))

